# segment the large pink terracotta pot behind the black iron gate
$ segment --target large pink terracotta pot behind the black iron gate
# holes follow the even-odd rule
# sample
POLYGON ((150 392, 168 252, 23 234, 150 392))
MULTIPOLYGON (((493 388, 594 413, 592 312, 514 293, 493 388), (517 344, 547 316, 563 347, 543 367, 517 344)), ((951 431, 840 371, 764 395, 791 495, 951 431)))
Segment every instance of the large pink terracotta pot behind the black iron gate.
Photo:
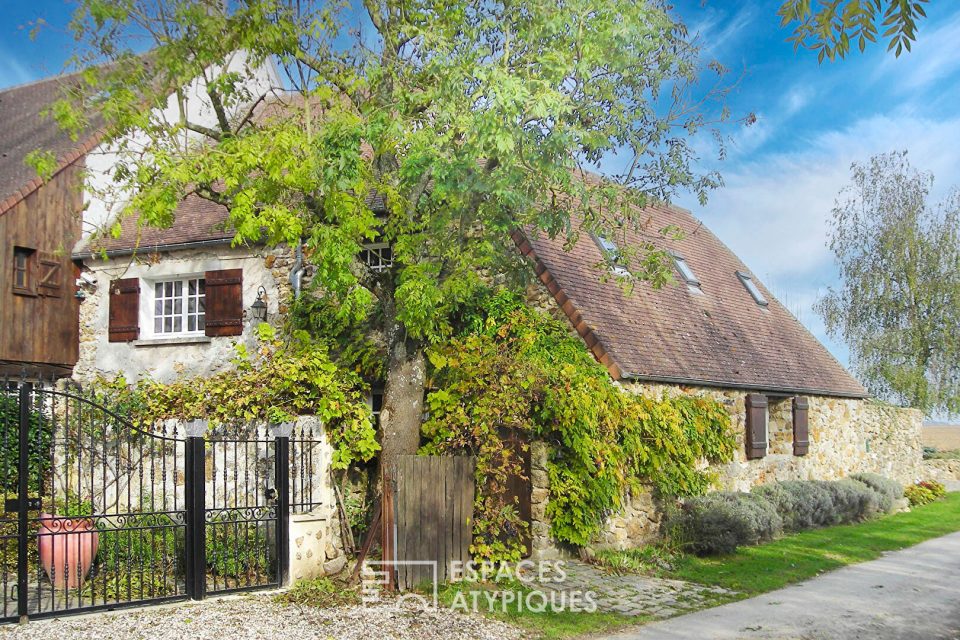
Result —
POLYGON ((90 518, 40 514, 40 564, 55 587, 79 587, 97 556, 100 533, 90 518))

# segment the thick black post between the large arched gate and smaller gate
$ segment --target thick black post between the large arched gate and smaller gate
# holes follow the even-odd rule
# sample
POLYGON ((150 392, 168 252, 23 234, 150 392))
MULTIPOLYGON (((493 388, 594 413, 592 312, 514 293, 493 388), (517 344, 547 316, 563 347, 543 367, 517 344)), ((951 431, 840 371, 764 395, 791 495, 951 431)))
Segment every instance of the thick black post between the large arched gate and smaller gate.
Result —
MULTIPOLYGON (((188 432, 189 433, 189 432, 188 432)), ((189 435, 186 451, 187 595, 203 600, 207 587, 206 521, 206 442, 202 436, 189 435)))

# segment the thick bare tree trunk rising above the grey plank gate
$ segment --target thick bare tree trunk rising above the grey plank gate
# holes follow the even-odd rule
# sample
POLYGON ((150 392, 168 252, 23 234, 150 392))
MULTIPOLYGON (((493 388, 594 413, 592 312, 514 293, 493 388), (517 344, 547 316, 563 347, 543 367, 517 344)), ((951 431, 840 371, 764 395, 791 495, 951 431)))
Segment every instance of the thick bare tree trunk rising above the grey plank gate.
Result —
POLYGON ((423 345, 404 333, 399 329, 391 340, 380 410, 380 464, 388 469, 397 456, 415 454, 420 447, 426 364, 423 345))

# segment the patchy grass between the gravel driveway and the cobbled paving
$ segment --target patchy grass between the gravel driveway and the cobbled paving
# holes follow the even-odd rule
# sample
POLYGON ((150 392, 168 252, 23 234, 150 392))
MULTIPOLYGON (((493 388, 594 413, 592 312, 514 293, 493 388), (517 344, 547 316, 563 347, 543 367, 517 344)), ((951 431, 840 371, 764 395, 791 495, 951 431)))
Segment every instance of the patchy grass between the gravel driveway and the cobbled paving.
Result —
MULTIPOLYGON (((440 601, 443 605, 451 606, 457 594, 463 592, 466 594, 466 601, 470 602, 471 592, 482 591, 484 589, 513 591, 517 593, 518 596, 523 597, 530 592, 528 587, 517 583, 500 585, 483 585, 477 583, 450 584, 441 589, 440 601)), ((544 640, 609 633, 623 627, 647 622, 650 619, 646 616, 625 616, 603 611, 595 611, 593 613, 575 611, 554 612, 550 610, 549 605, 546 610, 542 612, 530 611, 522 606, 508 606, 506 611, 495 606, 493 610, 490 610, 486 606, 486 601, 482 595, 479 597, 479 602, 482 605, 479 607, 479 612, 482 615, 512 624, 526 631, 530 637, 542 638, 544 640)))

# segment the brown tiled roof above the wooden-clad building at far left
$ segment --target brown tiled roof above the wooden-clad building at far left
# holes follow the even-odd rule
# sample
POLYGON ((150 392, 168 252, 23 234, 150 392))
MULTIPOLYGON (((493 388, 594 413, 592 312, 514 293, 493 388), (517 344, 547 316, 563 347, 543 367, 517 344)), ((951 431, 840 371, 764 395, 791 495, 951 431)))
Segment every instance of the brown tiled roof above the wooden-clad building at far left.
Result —
POLYGON ((24 164, 36 149, 52 151, 62 168, 85 155, 96 140, 71 140, 52 118, 40 112, 61 96, 76 75, 58 76, 0 91, 0 214, 37 189, 36 171, 24 164))

